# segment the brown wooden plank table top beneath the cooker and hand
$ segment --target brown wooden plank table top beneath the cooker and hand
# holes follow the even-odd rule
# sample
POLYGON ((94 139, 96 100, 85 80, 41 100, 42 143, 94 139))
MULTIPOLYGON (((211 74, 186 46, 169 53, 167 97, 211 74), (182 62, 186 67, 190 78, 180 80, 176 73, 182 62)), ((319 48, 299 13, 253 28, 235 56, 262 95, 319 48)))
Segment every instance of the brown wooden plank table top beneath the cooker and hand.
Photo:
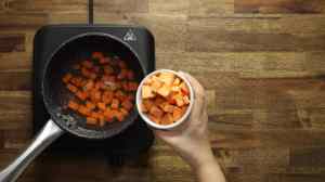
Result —
MULTIPOLYGON (((95 23, 148 27, 157 68, 207 89, 216 157, 232 182, 325 181, 325 1, 94 0, 95 23)), ((86 0, 0 1, 0 167, 31 139, 32 39, 86 23, 86 0)), ((122 167, 48 153, 22 182, 194 182, 161 141, 122 167)))

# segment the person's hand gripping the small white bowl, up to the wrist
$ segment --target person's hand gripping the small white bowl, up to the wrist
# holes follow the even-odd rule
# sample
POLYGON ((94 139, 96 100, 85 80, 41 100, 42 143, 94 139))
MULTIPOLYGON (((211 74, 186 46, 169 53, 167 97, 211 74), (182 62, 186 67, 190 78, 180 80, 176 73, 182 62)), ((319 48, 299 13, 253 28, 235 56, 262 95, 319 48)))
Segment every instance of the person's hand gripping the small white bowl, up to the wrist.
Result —
POLYGON ((192 113, 181 126, 168 131, 156 130, 155 134, 171 145, 192 167, 197 168, 213 158, 208 139, 208 115, 205 90, 200 83, 188 74, 180 74, 188 79, 194 90, 192 113))

